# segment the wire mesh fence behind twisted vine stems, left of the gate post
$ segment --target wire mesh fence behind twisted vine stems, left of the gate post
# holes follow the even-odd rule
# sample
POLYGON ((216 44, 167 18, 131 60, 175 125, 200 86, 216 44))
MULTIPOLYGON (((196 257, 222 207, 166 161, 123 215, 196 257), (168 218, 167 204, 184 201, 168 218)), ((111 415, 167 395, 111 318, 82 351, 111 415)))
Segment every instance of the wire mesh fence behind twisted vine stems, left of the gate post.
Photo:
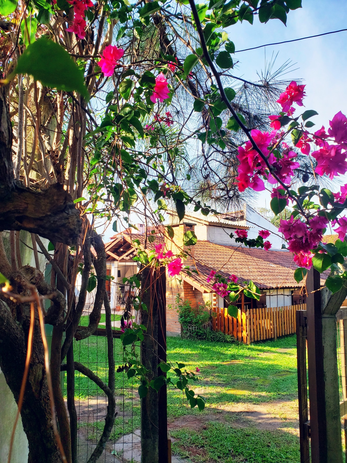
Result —
MULTIPOLYGON (((102 313, 101 324, 104 318, 105 312, 102 313)), ((121 313, 112 313, 112 325, 117 326, 120 318, 121 313)), ((87 321, 88 313, 84 313, 81 324, 87 325, 87 321)), ((139 349, 139 346, 137 348, 139 349)), ((136 378, 128 379, 127 367, 123 366, 123 345, 119 338, 114 338, 113 350, 116 365, 116 412, 110 438, 98 462, 137 462, 141 460, 140 399, 137 394, 139 384, 136 378)), ((89 336, 81 341, 74 340, 74 361, 85 365, 107 384, 105 336, 89 336)), ((62 388, 66 402, 66 375, 62 379, 62 388)), ((78 419, 78 462, 87 463, 104 429, 107 397, 93 381, 78 371, 75 371, 75 406, 78 419)))

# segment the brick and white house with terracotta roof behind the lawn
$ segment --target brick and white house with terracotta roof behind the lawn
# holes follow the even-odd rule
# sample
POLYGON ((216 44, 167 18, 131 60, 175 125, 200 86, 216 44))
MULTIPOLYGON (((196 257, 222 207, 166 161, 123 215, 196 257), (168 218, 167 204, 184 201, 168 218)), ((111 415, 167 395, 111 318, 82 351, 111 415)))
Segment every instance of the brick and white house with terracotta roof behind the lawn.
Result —
MULTIPOLYGON (((253 211, 253 210, 252 210, 253 211)), ((235 232, 236 228, 248 230, 248 236, 254 232, 258 235, 259 229, 268 229, 270 232, 278 233, 273 224, 262 218, 260 224, 256 223, 255 211, 252 214, 252 221, 247 221, 247 210, 238 211, 239 214, 227 217, 206 218, 196 213, 186 213, 182 222, 178 223, 176 214, 170 213, 170 223, 173 227, 174 237, 167 236, 166 227, 161 226, 155 231, 155 242, 150 243, 146 239, 145 231, 139 228, 139 233, 131 234, 130 231, 118 233, 112 237, 111 241, 105 245, 108 255, 107 262, 109 274, 114 277, 108 289, 111 297, 112 308, 124 303, 122 297, 126 294, 126 285, 123 285, 123 277, 136 273, 137 263, 132 260, 136 254, 136 249, 132 245, 132 240, 138 239, 144 248, 153 249, 154 244, 165 243, 165 250, 172 250, 174 254, 181 250, 186 251, 187 257, 184 265, 189 265, 191 269, 196 269, 198 274, 181 275, 169 277, 167 275, 167 332, 169 335, 180 335, 181 326, 178 321, 178 313, 174 308, 175 297, 180 294, 183 300, 189 300, 192 307, 197 307, 198 303, 211 302, 211 307, 223 308, 229 305, 229 301, 224 300, 214 293, 212 285, 207 283, 206 277, 211 270, 215 270, 223 276, 228 277, 235 274, 239 281, 252 280, 261 292, 260 300, 242 297, 236 305, 243 311, 256 307, 281 307, 291 306, 302 303, 300 288, 294 279, 292 253, 288 250, 274 249, 265 251, 262 249, 249 249, 232 242, 229 234, 235 232), (231 220, 230 220, 231 218, 231 220), (252 230, 252 228, 254 230, 252 230), (198 237, 195 246, 183 246, 183 235, 188 230, 194 232, 198 237), (202 239, 209 238, 209 239, 202 239)), ((258 214, 259 215, 259 214, 258 214)), ((148 235, 152 235, 148 230, 148 235)), ((273 247, 281 244, 282 239, 277 235, 270 236, 273 239, 273 247)), ((120 307, 119 307, 120 308, 120 307)))

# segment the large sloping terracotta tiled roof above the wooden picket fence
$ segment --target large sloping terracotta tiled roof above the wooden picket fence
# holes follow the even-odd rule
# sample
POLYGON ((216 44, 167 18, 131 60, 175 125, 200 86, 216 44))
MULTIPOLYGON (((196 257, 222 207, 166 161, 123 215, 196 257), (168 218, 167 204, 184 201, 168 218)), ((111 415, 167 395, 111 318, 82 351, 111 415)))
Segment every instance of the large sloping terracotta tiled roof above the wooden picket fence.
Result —
POLYGON ((296 265, 289 251, 265 251, 198 241, 194 260, 199 275, 192 273, 190 280, 208 289, 211 285, 206 282, 206 277, 211 270, 225 277, 235 274, 240 282, 252 280, 260 289, 300 286, 294 280, 296 265))

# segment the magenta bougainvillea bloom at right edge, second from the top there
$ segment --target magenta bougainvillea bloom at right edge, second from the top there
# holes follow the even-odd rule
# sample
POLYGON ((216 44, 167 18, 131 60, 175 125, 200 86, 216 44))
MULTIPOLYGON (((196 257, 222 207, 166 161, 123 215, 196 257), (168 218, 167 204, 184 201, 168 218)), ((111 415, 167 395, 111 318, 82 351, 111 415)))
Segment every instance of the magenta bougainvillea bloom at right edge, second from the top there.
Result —
POLYGON ((316 174, 335 175, 347 172, 346 151, 342 150, 341 145, 329 145, 325 142, 324 147, 318 151, 313 151, 312 156, 317 161, 316 174))

